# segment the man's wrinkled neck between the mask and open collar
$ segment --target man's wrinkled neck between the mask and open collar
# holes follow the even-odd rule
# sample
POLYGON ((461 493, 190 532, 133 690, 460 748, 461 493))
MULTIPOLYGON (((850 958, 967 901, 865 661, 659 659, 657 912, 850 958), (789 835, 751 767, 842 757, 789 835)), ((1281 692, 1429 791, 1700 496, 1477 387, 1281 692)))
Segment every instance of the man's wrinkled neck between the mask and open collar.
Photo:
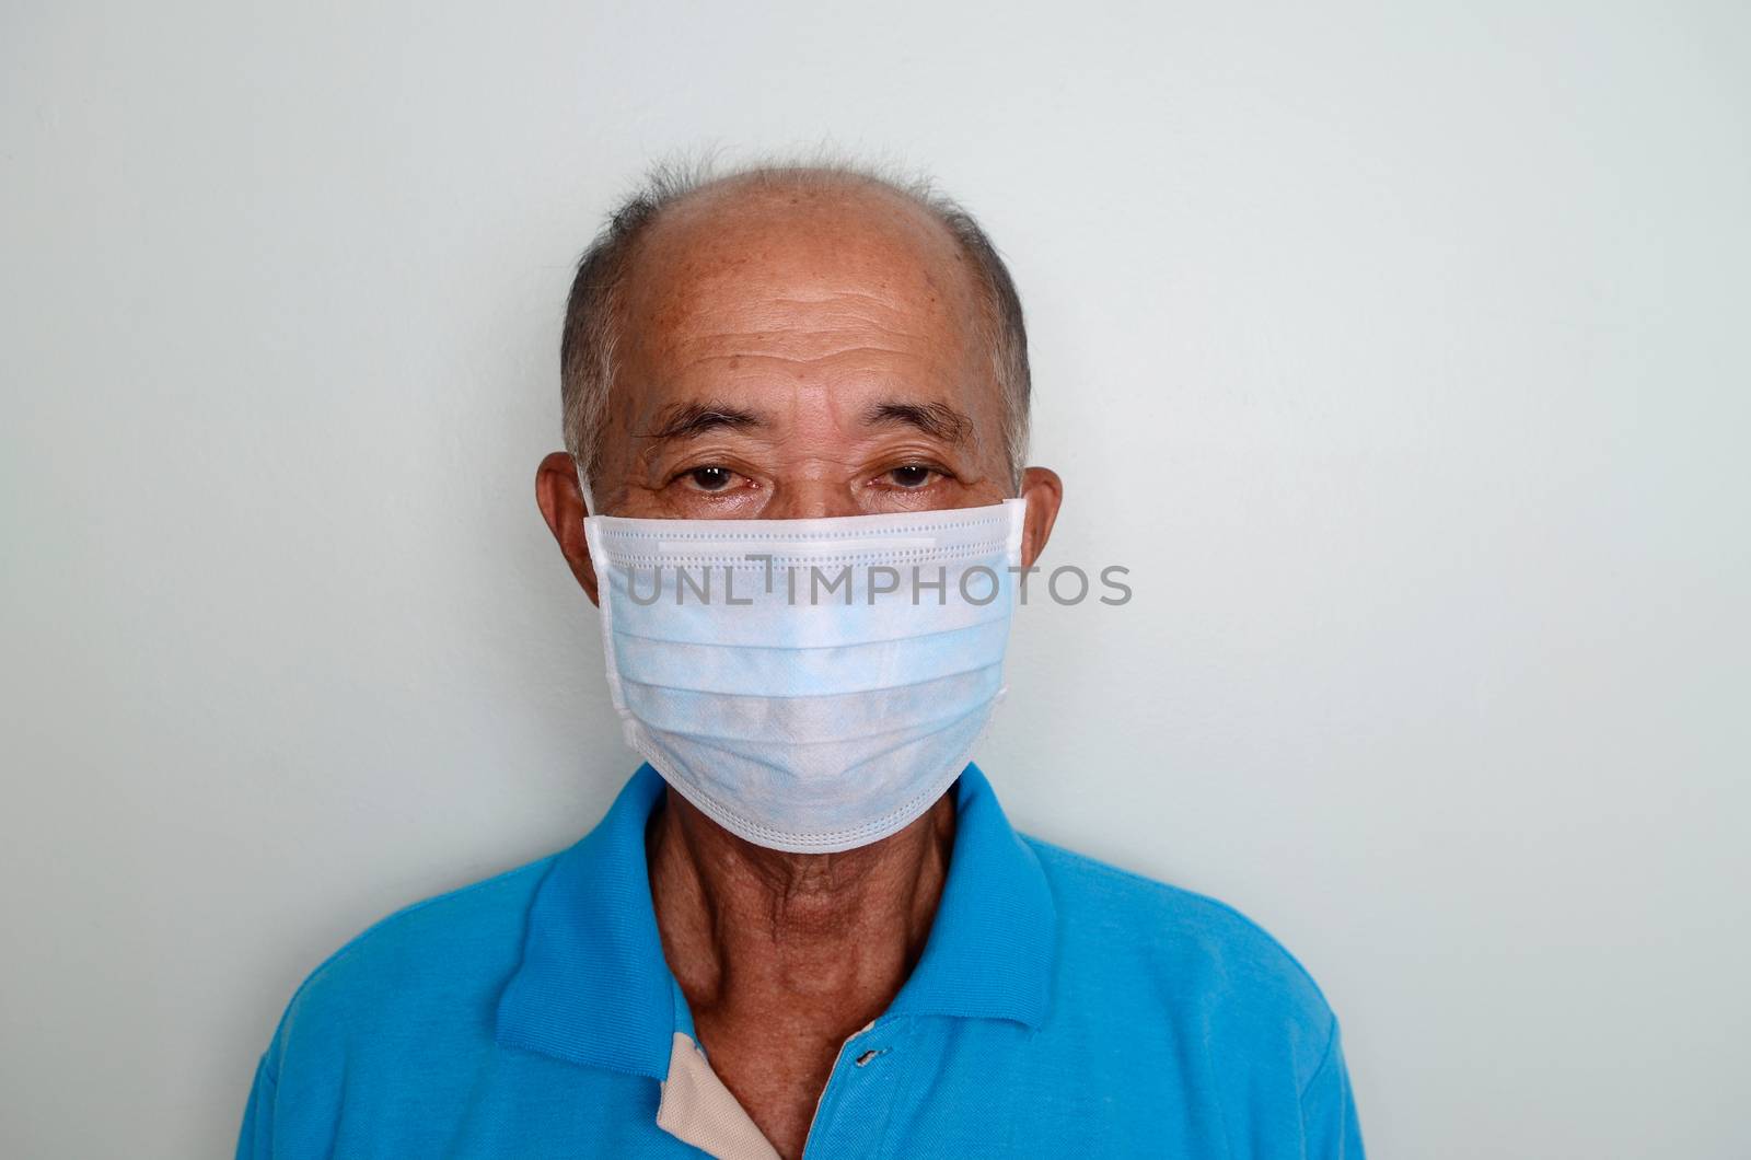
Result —
POLYGON ((953 792, 868 846, 783 853, 671 789, 646 831, 651 901, 697 1030, 777 1020, 842 1039, 881 1015, 925 950, 953 846, 953 792))

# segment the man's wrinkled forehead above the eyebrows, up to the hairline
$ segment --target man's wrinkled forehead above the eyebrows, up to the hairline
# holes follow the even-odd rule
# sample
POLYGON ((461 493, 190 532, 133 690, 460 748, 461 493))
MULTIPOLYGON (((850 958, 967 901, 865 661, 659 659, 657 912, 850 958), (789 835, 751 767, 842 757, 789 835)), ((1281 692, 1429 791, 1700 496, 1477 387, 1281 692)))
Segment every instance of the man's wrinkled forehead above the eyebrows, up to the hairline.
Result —
POLYGON ((877 335, 914 357, 977 363, 984 300, 925 209, 863 186, 707 187, 641 240, 623 286, 627 356, 646 371, 744 345, 809 359, 877 335))

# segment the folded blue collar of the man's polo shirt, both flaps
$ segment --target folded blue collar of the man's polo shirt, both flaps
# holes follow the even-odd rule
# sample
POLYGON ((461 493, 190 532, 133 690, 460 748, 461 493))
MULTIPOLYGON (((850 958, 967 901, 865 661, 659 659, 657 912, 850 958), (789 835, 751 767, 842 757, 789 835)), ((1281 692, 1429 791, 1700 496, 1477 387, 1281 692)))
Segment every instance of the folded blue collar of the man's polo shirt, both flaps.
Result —
MULTIPOLYGON (((644 860, 644 824, 662 792, 662 775, 639 766, 597 827, 553 859, 529 908, 524 960, 499 995, 501 1044, 667 1078, 674 1032, 690 1029, 662 957, 644 860)), ((1038 1027, 1056 929, 1045 873, 977 766, 951 792, 949 880, 888 1015, 1038 1027)))

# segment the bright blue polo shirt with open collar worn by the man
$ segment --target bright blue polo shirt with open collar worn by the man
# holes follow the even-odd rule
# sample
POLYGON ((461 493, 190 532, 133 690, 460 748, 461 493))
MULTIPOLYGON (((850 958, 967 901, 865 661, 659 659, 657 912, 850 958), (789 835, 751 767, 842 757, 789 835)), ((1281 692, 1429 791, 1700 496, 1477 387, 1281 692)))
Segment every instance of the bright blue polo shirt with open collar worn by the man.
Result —
MULTIPOLYGON (((382 920, 298 988, 238 1156, 776 1155, 697 1043, 643 766, 578 845, 382 920)), ((984 775, 925 953, 807 1156, 1361 1156, 1338 1022, 1212 899, 1017 834, 984 775)))

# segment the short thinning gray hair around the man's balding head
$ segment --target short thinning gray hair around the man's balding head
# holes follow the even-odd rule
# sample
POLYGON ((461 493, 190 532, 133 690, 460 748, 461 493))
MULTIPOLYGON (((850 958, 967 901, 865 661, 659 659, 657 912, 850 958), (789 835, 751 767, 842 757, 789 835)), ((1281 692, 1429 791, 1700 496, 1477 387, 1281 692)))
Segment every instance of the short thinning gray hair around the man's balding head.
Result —
POLYGON ((1009 266, 974 216, 937 193, 930 179, 902 177, 847 161, 767 161, 732 170, 714 170, 709 161, 665 161, 651 168, 643 184, 608 216, 608 224, 578 261, 560 338, 566 450, 578 464, 578 477, 585 485, 594 482, 602 463, 608 393, 615 382, 615 352, 620 342, 622 287, 639 240, 664 210, 727 180, 765 187, 874 186, 907 198, 949 231, 984 289, 979 338, 991 350, 991 373, 1003 403, 1003 454, 1010 484, 1019 487, 1028 454, 1028 331, 1009 266))

